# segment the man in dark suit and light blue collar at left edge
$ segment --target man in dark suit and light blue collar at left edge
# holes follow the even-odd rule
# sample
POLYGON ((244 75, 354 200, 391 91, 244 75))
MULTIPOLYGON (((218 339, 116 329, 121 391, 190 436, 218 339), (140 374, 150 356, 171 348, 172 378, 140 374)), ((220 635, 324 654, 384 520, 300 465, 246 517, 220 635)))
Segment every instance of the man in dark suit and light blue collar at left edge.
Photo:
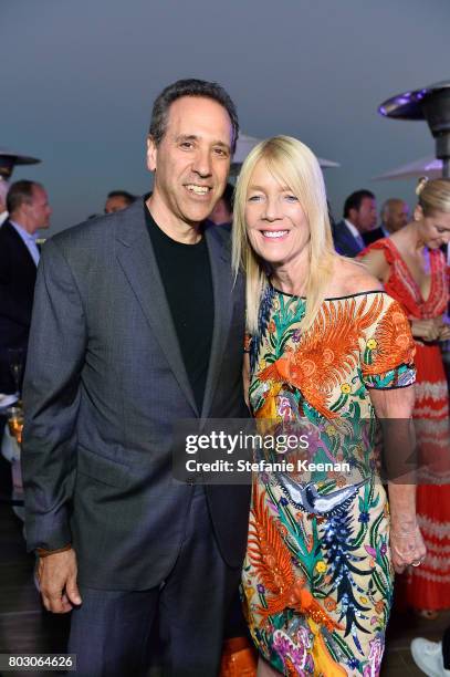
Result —
POLYGON ((40 259, 36 233, 49 228, 52 210, 44 187, 28 180, 12 184, 6 207, 9 217, 0 228, 0 393, 13 393, 9 351, 22 350, 24 362, 40 259))

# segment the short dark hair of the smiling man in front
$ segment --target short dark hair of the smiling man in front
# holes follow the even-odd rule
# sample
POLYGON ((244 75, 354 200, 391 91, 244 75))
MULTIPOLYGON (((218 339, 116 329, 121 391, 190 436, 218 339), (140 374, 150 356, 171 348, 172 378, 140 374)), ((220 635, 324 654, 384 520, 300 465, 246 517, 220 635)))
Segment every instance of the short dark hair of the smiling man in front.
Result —
POLYGON ((206 80, 178 80, 174 84, 167 86, 159 96, 155 100, 150 128, 148 131, 149 136, 154 139, 158 146, 166 134, 167 117, 169 107, 181 96, 203 96, 206 98, 212 98, 218 104, 223 106, 231 119, 231 126, 233 129, 233 137, 231 142, 231 152, 234 153, 236 144, 239 136, 239 121, 238 113, 233 102, 229 94, 220 86, 217 82, 207 82, 206 80))

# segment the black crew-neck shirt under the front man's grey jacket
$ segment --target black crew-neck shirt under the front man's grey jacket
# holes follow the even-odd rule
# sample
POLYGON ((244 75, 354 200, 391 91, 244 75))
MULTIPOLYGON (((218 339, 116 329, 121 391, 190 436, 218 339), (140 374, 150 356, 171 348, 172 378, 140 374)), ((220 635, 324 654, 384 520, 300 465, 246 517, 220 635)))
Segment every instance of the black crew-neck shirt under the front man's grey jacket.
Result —
POLYGON ((148 208, 145 213, 181 356, 197 407, 201 412, 214 320, 211 264, 206 238, 203 236, 197 244, 176 242, 158 227, 148 208))

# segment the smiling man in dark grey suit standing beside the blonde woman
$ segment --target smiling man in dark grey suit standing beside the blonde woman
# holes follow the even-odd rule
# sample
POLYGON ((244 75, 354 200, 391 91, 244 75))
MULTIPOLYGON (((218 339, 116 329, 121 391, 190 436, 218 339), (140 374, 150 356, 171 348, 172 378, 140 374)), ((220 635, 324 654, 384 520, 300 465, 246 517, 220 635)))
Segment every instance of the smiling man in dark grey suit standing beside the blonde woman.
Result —
POLYGON ((244 554, 245 486, 177 482, 174 426, 247 415, 243 283, 202 228, 239 126, 216 83, 153 110, 154 191, 45 243, 24 385, 27 538, 43 603, 72 611, 82 677, 145 674, 158 617, 169 675, 216 675, 244 554))

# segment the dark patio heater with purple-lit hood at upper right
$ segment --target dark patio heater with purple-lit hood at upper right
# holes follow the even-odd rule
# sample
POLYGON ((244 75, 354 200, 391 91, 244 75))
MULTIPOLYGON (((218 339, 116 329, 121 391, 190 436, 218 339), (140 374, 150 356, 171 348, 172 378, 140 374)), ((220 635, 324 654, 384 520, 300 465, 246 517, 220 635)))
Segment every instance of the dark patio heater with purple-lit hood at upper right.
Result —
POLYGON ((436 157, 442 160, 442 176, 450 178, 450 80, 397 94, 378 113, 397 119, 426 119, 436 138, 436 157))

